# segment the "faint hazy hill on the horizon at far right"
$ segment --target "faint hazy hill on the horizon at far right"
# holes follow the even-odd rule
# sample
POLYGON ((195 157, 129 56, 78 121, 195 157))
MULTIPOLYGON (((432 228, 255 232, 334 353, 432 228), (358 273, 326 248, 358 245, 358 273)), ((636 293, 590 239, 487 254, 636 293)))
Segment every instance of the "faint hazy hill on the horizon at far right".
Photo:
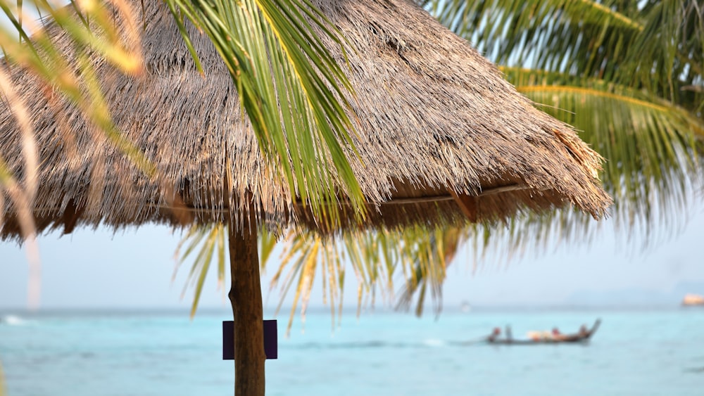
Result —
POLYGON ((704 281, 681 282, 670 291, 624 288, 620 290, 580 290, 570 295, 567 305, 577 306, 664 306, 680 305, 687 293, 704 294, 704 281))

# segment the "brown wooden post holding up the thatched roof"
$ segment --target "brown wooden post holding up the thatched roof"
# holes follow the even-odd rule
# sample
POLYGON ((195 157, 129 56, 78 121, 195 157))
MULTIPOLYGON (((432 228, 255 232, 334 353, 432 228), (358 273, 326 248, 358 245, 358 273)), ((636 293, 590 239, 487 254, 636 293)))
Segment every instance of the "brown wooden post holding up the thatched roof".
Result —
POLYGON ((230 302, 234 317, 234 395, 264 396, 264 325, 257 229, 250 207, 249 227, 228 224, 230 302))

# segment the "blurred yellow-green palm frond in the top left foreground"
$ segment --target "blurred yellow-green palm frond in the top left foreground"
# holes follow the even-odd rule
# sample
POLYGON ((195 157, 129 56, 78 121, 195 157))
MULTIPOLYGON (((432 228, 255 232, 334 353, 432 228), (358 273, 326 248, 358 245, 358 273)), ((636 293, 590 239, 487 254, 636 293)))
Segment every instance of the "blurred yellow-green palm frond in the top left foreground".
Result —
POLYGON ((0 27, 0 46, 5 62, 32 73, 80 108, 104 132, 102 138, 96 136, 96 139, 108 139, 135 165, 147 174, 153 174, 149 161, 113 124, 96 79, 96 58, 106 59, 127 74, 138 75, 143 68, 135 11, 124 0, 110 0, 108 4, 114 13, 108 13, 106 6, 94 4, 71 3, 70 7, 56 7, 37 0, 27 1, 23 8, 15 8, 9 1, 2 0, 0 8, 10 24, 0 27), (26 11, 32 6, 44 18, 51 18, 64 32, 70 49, 60 48, 61 44, 46 34, 43 25, 32 23, 29 17, 33 15, 27 15, 26 11))

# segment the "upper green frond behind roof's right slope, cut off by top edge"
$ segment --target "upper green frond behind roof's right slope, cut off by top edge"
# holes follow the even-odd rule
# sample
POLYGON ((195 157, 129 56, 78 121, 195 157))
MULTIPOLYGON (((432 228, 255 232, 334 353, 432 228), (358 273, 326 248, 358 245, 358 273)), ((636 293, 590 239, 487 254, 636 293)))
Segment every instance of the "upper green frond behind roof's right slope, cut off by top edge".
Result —
POLYGON ((441 23, 501 65, 604 77, 643 30, 619 1, 425 1, 441 23), (605 62, 608 60, 609 62, 605 62))

